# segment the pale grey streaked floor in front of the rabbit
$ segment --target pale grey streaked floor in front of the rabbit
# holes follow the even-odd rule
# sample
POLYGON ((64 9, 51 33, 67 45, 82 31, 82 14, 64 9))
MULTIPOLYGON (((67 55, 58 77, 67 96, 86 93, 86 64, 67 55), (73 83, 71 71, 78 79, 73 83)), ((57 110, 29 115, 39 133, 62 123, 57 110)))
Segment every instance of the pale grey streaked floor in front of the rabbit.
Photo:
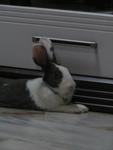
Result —
POLYGON ((113 115, 1 109, 0 150, 20 149, 113 150, 113 115))

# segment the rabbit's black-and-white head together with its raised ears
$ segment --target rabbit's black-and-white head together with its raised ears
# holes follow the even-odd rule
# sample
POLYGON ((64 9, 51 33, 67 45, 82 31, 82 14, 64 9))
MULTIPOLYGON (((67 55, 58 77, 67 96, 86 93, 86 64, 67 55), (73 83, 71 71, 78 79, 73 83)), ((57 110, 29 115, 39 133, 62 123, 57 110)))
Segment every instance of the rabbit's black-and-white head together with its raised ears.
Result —
MULTIPOLYGON (((65 102, 69 102, 75 90, 75 82, 69 70, 64 66, 57 64, 51 40, 48 38, 41 38, 39 43, 35 46, 37 46, 37 50, 38 47, 40 47, 45 53, 42 56, 44 57, 44 62, 42 63, 38 61, 38 56, 36 56, 37 52, 33 52, 33 60, 44 72, 43 81, 50 89, 59 94, 65 102)), ((35 49, 33 51, 37 50, 35 49)))

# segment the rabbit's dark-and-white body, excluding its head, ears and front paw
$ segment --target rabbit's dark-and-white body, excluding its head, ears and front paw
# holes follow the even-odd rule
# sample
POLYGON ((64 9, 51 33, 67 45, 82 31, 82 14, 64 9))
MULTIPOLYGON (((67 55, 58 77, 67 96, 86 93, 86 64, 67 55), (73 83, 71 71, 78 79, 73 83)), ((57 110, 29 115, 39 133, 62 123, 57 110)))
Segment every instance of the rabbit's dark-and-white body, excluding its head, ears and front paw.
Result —
POLYGON ((0 80, 0 107, 50 110, 64 104, 42 78, 0 80))

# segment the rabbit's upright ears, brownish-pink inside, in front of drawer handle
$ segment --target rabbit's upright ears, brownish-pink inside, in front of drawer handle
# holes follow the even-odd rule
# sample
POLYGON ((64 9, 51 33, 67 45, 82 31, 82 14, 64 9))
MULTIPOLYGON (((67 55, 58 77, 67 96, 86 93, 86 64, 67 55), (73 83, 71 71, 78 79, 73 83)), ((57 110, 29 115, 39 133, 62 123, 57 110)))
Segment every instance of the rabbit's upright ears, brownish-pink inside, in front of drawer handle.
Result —
POLYGON ((53 44, 48 38, 40 38, 38 43, 34 43, 32 53, 35 64, 43 70, 49 67, 51 63, 57 64, 53 44))

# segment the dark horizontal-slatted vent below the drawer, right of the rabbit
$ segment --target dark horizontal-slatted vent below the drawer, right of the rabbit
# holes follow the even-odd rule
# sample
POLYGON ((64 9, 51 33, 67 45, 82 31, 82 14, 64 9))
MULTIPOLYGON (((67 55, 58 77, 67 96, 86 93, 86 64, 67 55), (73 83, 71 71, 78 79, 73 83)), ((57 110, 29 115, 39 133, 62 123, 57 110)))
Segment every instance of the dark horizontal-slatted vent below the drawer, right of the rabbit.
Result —
POLYGON ((113 84, 78 80, 73 102, 85 104, 91 111, 113 113, 113 84))

